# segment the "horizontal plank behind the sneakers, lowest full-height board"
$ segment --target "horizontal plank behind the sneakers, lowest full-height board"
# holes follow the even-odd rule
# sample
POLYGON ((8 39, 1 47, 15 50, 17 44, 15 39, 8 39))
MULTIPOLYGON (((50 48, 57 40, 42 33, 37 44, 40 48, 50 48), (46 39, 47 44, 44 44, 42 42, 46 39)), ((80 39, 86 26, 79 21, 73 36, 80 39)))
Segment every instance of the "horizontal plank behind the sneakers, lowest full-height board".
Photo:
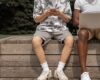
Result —
MULTIPOLYGON (((100 78, 100 67, 87 67, 91 78, 100 78)), ((52 71, 56 67, 50 67, 52 71)), ((34 78, 38 77, 42 69, 40 67, 0 67, 0 78, 34 78)), ((69 78, 80 77, 80 67, 66 67, 65 74, 69 78)))

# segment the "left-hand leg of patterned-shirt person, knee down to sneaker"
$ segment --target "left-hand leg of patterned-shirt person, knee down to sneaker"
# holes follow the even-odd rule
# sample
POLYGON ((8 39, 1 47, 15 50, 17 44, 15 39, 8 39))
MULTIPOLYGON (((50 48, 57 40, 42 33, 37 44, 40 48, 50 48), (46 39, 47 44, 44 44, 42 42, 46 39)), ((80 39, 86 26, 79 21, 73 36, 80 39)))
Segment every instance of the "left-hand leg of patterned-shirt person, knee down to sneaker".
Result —
POLYGON ((40 61, 40 64, 43 68, 42 73, 37 78, 37 80, 47 80, 48 78, 51 78, 51 70, 49 70, 48 64, 46 62, 45 53, 42 47, 43 40, 40 37, 34 37, 32 40, 34 51, 40 61))

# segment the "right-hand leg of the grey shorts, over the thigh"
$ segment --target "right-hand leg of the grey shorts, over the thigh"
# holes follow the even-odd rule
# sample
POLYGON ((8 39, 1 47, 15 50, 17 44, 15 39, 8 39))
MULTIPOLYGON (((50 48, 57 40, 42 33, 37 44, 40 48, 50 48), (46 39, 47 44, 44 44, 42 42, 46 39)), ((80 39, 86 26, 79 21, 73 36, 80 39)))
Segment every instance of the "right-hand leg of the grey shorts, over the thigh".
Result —
POLYGON ((54 36, 61 43, 63 43, 64 40, 67 37, 69 37, 69 36, 73 37, 69 30, 64 30, 64 31, 56 32, 56 33, 54 33, 54 36))

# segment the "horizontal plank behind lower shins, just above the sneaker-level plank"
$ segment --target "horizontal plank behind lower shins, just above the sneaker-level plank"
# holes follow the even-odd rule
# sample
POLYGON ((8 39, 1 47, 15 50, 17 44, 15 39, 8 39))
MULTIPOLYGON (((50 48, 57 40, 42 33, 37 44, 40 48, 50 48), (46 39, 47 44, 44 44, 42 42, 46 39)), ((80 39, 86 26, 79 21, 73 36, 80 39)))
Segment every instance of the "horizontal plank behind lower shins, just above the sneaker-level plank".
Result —
MULTIPOLYGON (((50 67, 58 65, 60 55, 46 55, 50 67)), ((1 67, 40 67, 36 55, 0 55, 1 67)), ((79 56, 71 55, 66 66, 80 66, 79 56)), ((88 55, 88 67, 100 67, 100 55, 88 55)))

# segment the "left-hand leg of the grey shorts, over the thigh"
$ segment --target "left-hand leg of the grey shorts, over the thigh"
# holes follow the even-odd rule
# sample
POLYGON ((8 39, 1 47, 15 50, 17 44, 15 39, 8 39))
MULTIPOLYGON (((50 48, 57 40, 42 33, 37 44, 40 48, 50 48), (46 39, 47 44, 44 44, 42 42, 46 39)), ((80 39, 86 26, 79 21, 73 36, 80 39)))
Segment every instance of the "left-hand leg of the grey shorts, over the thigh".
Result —
POLYGON ((43 40, 43 46, 45 44, 47 44, 50 40, 51 40, 51 33, 47 32, 47 31, 40 31, 40 30, 37 30, 34 34, 33 34, 33 38, 34 37, 40 37, 42 40, 43 40))

